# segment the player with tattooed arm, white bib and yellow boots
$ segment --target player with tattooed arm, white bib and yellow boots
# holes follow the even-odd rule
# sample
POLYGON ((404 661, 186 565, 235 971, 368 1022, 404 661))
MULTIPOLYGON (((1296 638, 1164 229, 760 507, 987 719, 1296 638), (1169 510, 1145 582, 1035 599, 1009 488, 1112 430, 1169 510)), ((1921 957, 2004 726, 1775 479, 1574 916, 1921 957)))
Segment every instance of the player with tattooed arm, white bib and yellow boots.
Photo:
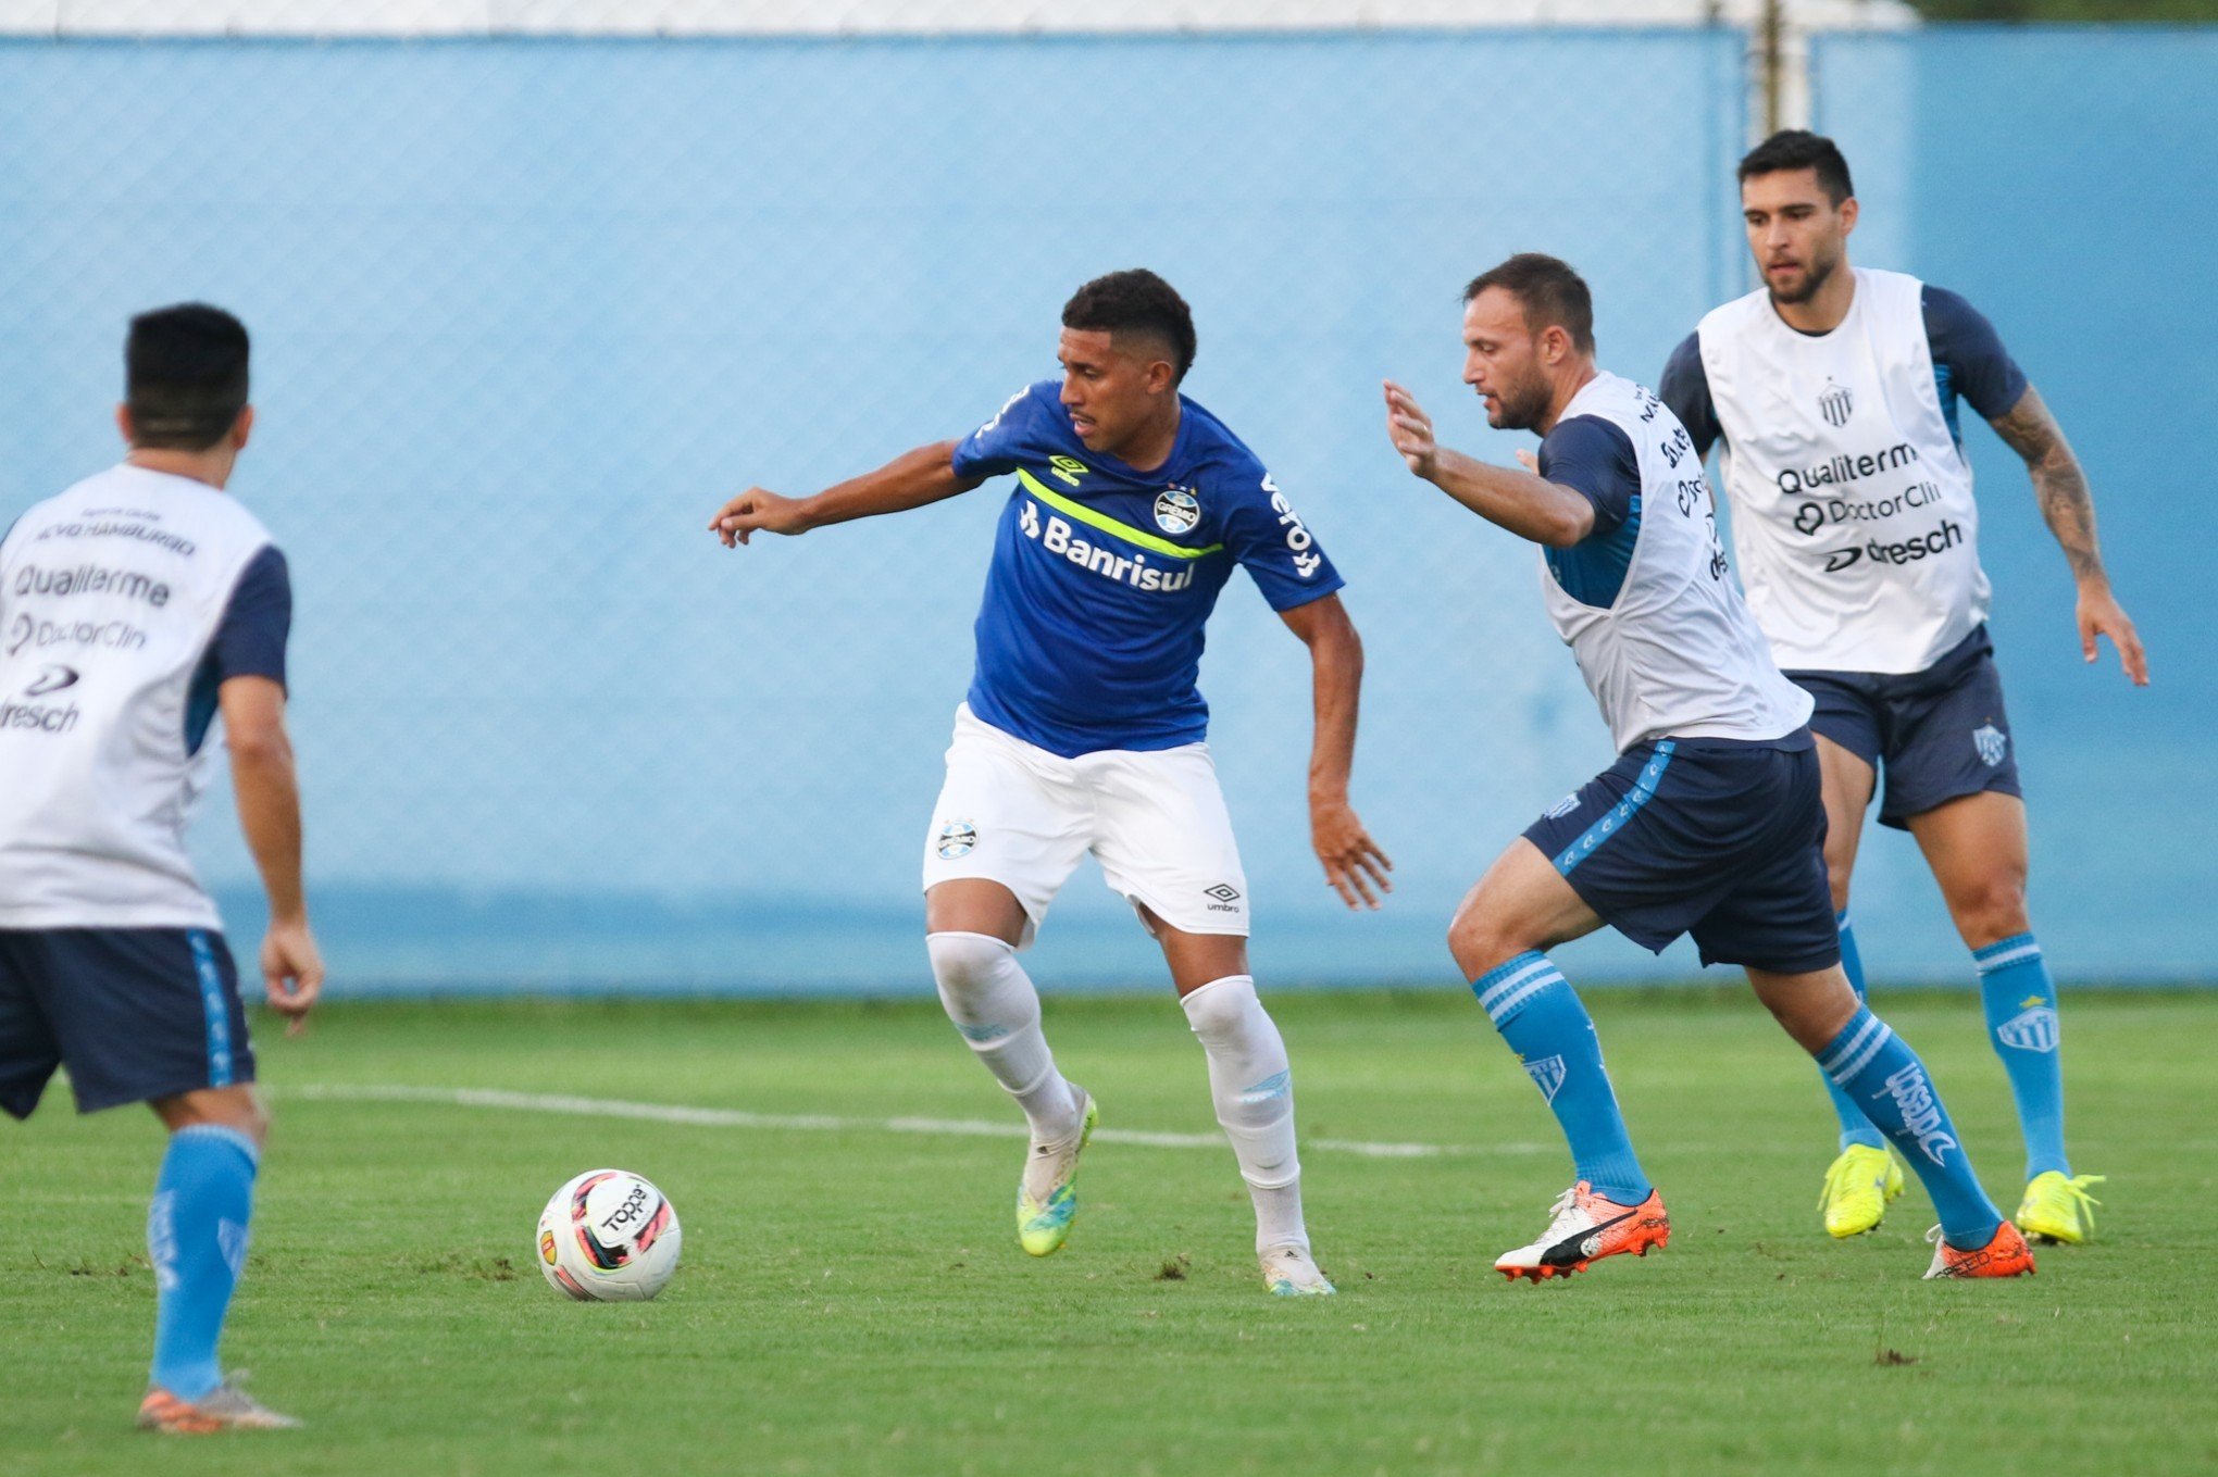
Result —
MULTIPOLYGON (((2025 457, 2078 581, 2085 659, 2107 634, 2143 685, 2147 659, 2103 572, 2087 477, 1994 326, 1956 293, 1850 266, 1856 200, 1832 140, 1779 133, 1739 175, 1763 288, 1701 319, 1661 395, 1699 455, 1721 446, 1748 605, 1817 701, 1850 980, 1863 994, 1848 892, 1883 774, 1879 821, 1916 836, 1941 883, 2010 1073, 2027 1180, 2016 1222, 2083 1242, 2100 1175, 2074 1175, 2065 1158, 2056 985, 2025 911, 2025 803, 1985 625, 1961 406, 2025 457)), ((1821 1211, 1832 1235, 1856 1235, 1881 1222, 1903 1175, 1863 1109, 1832 1098, 1841 1151, 1821 1211)))

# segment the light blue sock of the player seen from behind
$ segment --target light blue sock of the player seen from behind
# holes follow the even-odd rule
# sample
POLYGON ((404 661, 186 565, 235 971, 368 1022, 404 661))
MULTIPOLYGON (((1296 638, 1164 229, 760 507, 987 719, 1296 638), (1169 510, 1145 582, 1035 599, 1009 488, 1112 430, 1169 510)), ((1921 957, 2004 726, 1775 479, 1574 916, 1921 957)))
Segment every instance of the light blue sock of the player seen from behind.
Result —
POLYGON ((149 1379, 177 1399, 200 1399, 224 1379, 215 1342, 246 1266, 257 1160, 255 1140, 237 1129, 195 1122, 169 1135, 146 1211, 160 1291, 149 1379))

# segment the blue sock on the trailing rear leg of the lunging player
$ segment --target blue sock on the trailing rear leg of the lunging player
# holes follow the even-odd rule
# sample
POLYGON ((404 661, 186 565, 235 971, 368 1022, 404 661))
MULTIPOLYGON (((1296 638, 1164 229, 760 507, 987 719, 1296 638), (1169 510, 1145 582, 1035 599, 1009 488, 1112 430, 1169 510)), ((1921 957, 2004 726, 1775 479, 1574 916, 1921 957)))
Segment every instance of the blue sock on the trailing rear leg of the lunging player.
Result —
POLYGON ((1903 1160, 1919 1173, 1941 1215, 1941 1235, 1947 1244, 1956 1251, 1978 1251, 1992 1242, 2003 1213, 1987 1200, 1987 1191, 1978 1189, 1972 1158, 1956 1140, 1956 1124, 1950 1122, 1941 1093, 1934 1091, 1925 1062, 1910 1042, 1865 1007, 1817 1053, 1817 1065, 1870 1111, 1879 1131, 1894 1140, 1903 1160))

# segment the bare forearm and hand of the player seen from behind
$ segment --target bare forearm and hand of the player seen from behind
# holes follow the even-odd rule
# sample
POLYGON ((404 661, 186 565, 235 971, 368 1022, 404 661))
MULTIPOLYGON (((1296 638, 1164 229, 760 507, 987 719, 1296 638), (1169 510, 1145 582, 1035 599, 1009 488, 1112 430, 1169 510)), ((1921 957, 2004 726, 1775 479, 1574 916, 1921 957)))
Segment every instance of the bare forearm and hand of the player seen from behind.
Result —
POLYGON ((288 1033, 297 1036, 324 989, 324 956, 308 929, 308 898, 299 880, 299 778, 284 730, 284 685, 268 676, 231 676, 215 690, 215 701, 224 712, 240 829, 271 900, 262 982, 271 1009, 291 1016, 288 1033))

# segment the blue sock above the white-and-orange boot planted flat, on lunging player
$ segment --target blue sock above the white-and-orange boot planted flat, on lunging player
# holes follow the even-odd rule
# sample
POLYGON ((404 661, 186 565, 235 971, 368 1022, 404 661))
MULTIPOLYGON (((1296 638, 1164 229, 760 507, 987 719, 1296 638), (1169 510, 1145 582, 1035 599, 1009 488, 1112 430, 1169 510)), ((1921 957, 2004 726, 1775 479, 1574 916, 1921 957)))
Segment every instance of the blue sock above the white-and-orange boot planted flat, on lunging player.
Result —
POLYGON ((1555 1111, 1579 1178, 1617 1204, 1648 1200, 1655 1186, 1632 1153, 1610 1073, 1601 1069, 1601 1038, 1570 980, 1546 954, 1528 949, 1482 974, 1471 991, 1555 1111))

